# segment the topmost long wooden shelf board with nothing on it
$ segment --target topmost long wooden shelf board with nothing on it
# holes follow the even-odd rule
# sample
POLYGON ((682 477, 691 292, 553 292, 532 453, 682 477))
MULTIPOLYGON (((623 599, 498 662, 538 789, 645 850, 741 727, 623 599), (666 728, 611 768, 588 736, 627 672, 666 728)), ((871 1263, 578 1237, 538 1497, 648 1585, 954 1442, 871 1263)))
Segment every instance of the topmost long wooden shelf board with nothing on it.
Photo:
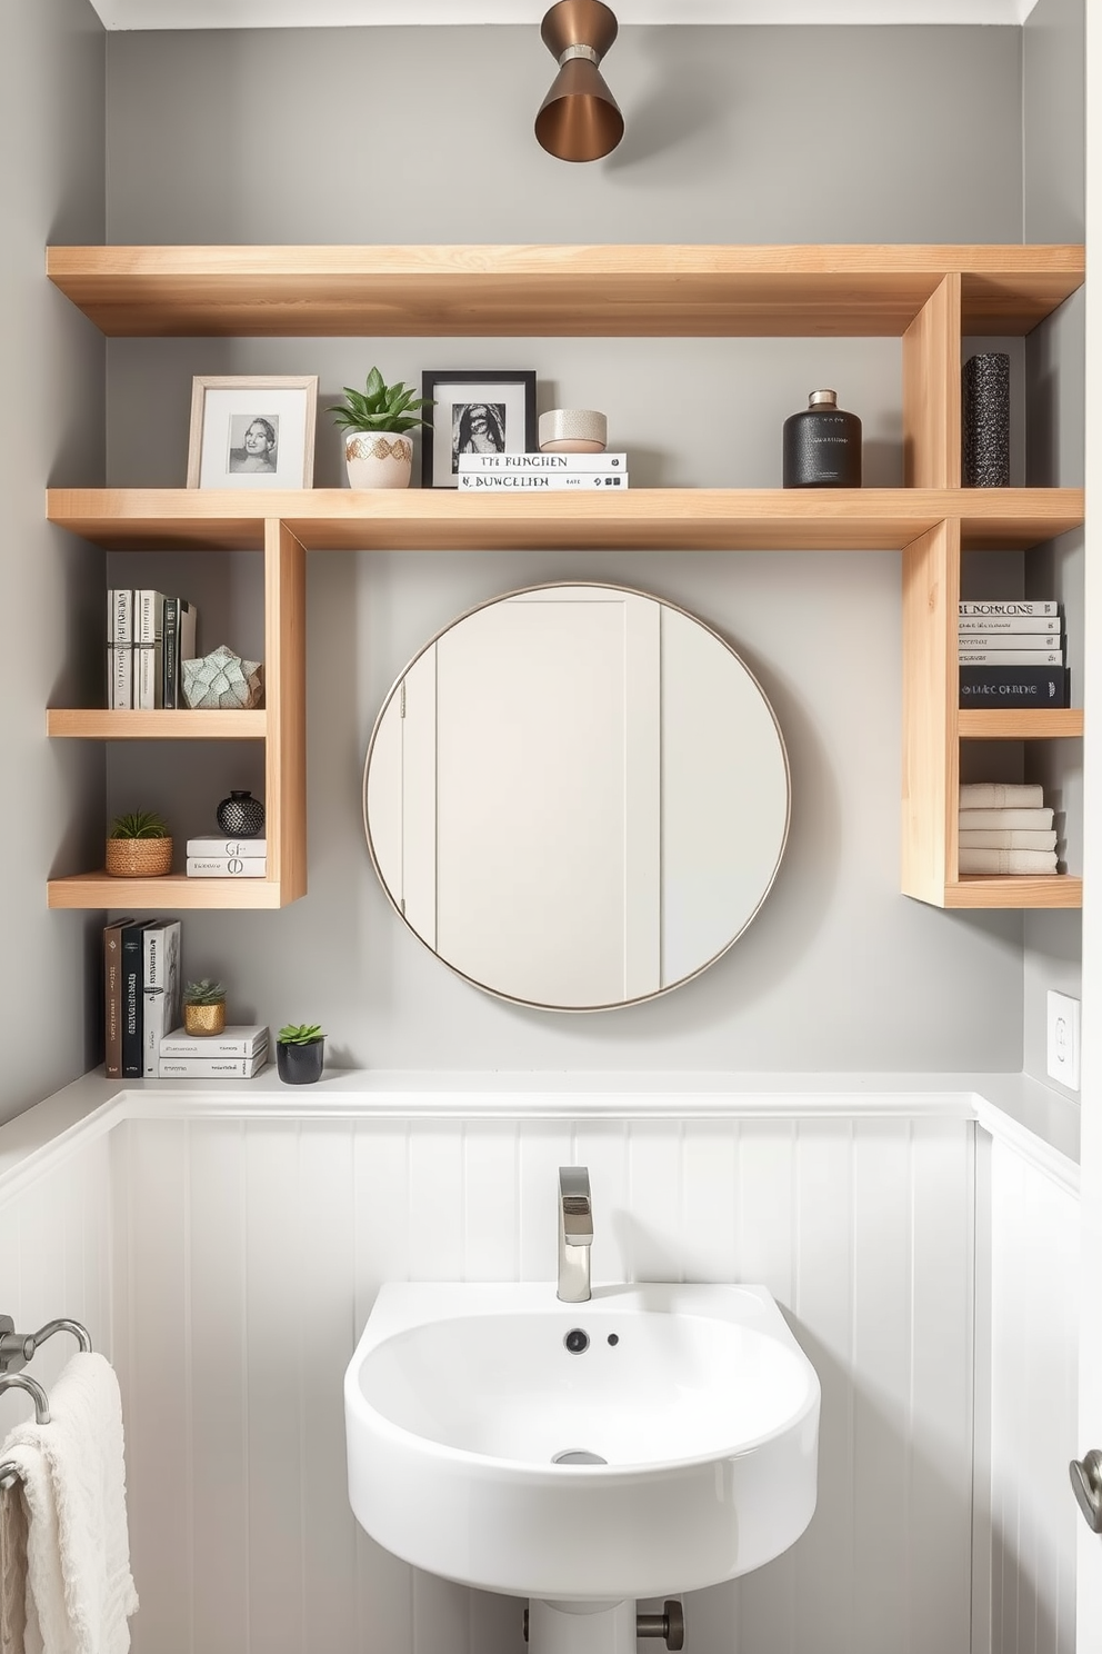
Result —
POLYGON ((1028 332, 1082 246, 51 246, 107 336, 902 336, 947 275, 963 331, 1028 332))

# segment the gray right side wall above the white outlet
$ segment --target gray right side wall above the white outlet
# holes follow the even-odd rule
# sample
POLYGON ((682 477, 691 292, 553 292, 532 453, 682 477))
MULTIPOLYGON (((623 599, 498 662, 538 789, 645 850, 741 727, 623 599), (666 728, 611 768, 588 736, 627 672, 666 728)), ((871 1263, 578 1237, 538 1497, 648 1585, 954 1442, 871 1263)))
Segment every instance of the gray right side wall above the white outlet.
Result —
MULTIPOLYGON (((1024 237, 1082 241, 1085 228, 1085 5, 1039 0, 1023 30, 1024 237)), ((1026 349, 1029 478, 1084 481, 1084 296, 1077 293, 1029 336, 1026 349)), ((1026 557, 1026 590, 1064 604, 1072 703, 1084 690, 1084 534, 1064 534, 1026 557)), ((1031 779, 1064 825, 1069 872, 1082 873, 1082 741, 1026 753, 1031 779)), ((1082 915, 1029 913, 1024 921, 1024 1068, 1046 1078, 1046 994, 1082 992, 1082 915)), ((1062 1090, 1062 1087, 1059 1087, 1062 1090)))

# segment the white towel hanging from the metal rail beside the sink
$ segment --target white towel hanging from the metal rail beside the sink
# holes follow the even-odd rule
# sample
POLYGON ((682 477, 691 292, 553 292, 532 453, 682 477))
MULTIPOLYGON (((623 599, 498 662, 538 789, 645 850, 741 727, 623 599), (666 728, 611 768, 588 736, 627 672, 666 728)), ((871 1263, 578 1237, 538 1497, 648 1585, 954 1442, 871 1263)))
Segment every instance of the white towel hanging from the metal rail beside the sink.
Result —
POLYGON ((17 1426, 0 1451, 23 1475, 28 1651, 126 1654, 137 1609, 126 1523, 119 1383, 74 1355, 50 1388, 50 1424, 17 1426))

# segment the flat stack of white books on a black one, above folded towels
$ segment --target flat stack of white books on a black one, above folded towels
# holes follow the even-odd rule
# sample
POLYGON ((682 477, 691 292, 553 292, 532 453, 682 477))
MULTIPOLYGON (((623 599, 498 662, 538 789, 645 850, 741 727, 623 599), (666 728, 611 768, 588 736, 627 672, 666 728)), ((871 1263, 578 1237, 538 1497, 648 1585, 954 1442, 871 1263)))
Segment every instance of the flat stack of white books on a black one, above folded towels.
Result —
POLYGON ((1056 599, 958 604, 962 706, 1067 706, 1056 599))

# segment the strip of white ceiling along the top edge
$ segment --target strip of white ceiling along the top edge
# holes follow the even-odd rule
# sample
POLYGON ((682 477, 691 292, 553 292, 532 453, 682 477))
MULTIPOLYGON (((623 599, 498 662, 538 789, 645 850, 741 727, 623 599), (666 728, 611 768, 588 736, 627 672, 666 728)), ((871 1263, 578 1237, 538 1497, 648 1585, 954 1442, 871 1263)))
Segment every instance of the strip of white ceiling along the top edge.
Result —
MULTIPOLYGON (((1024 23, 1036 0, 611 0, 631 23, 1024 23)), ((106 28, 539 25, 550 0, 93 0, 106 28)))

